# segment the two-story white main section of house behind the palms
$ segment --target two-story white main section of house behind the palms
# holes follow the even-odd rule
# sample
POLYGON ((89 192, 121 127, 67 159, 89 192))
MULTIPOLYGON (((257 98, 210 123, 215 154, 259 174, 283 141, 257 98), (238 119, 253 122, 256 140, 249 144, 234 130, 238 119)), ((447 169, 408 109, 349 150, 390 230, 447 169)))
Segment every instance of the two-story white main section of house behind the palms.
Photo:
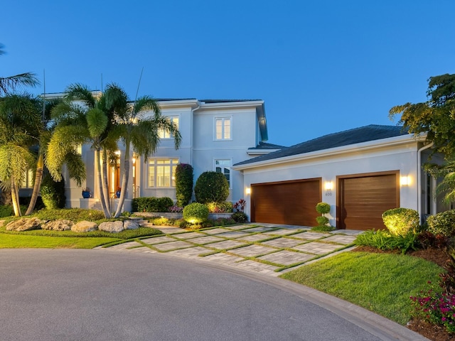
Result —
MULTIPOLYGON (((267 144, 267 123, 264 101, 260 99, 157 99, 161 114, 178 124, 181 146, 176 150, 173 136, 160 132, 160 145, 148 160, 133 158, 124 210, 131 210, 134 197, 171 197, 176 200, 173 172, 178 163, 193 166, 194 181, 205 171, 223 173, 230 185, 228 200, 244 197, 243 176, 232 171, 232 165, 255 156, 277 151, 282 146, 267 144)), ((68 207, 100 208, 95 153, 82 146, 82 158, 87 165, 85 188, 90 198, 82 198, 81 188, 66 181, 68 207)), ((117 165, 110 168, 109 190, 116 207, 115 192, 123 172, 124 148, 119 146, 117 165)), ((69 179, 68 175, 65 179, 69 179)))

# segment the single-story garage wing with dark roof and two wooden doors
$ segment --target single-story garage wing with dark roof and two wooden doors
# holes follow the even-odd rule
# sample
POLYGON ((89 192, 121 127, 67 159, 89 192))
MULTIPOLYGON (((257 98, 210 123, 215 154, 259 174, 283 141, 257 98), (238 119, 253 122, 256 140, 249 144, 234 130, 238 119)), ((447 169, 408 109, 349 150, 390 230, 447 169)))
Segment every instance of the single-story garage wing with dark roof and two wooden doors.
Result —
MULTIPOLYGON (((395 207, 421 217, 444 210, 435 180, 422 171, 431 153, 425 137, 400 126, 370 125, 321 136, 236 163, 249 193, 252 222, 314 226, 318 202, 331 205, 338 229, 382 228, 381 214, 395 207)), ((441 162, 432 156, 432 162, 441 162)))

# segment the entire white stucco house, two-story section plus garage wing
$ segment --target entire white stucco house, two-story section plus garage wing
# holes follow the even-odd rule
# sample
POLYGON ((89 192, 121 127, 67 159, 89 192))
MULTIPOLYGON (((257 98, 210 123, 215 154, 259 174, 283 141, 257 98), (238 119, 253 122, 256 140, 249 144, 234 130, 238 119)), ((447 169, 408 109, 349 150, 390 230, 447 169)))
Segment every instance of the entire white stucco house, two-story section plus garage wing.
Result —
MULTIPOLYGON (((162 115, 178 124, 181 146, 161 131, 158 150, 149 159, 134 157, 124 210, 134 197, 176 200, 173 172, 178 163, 193 166, 194 182, 205 171, 223 173, 228 200, 243 198, 252 222, 316 225, 318 202, 331 205, 330 223, 338 229, 382 228, 382 212, 407 207, 426 215, 445 210, 434 197, 436 180, 422 171, 432 154, 425 136, 400 126, 363 126, 291 147, 268 144, 261 99, 158 99, 162 115)), ((302 131, 304 136, 304 131, 302 131)), ((91 197, 65 178, 67 207, 100 209, 95 152, 82 146, 87 165, 84 185, 91 197)), ((124 148, 109 171, 112 206, 123 172, 124 148)), ((432 162, 443 158, 432 156, 432 162)), ((125 189, 122 189, 125 190, 125 189)))

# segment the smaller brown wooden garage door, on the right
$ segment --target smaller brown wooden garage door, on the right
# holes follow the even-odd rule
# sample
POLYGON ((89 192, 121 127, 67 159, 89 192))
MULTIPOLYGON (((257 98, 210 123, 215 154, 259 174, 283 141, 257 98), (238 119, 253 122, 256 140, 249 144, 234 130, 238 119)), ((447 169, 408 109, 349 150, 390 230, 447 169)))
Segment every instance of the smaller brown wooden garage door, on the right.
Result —
POLYGON ((382 213, 400 207, 399 172, 338 177, 337 227, 385 229, 382 213))

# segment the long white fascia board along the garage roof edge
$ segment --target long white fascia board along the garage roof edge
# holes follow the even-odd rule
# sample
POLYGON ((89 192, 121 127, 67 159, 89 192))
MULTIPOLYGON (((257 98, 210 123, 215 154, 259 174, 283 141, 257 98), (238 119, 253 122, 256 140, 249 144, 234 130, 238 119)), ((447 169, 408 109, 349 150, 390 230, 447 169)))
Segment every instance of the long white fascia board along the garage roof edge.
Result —
POLYGON ((272 158, 270 160, 258 161, 255 163, 247 163, 245 165, 232 166, 231 168, 235 171, 244 171, 250 168, 257 168, 262 166, 274 166, 281 163, 290 163, 296 161, 307 161, 313 158, 322 158, 330 156, 339 156, 342 153, 351 153, 351 152, 367 152, 375 148, 380 147, 391 147, 391 146, 400 146, 404 144, 409 144, 412 142, 423 142, 425 141, 426 135, 417 136, 414 135, 402 135, 390 137, 388 139, 380 139, 374 141, 363 142, 361 144, 350 144, 348 146, 341 146, 336 148, 323 149, 321 151, 311 151, 309 153, 296 154, 291 156, 285 156, 283 158, 272 158))

